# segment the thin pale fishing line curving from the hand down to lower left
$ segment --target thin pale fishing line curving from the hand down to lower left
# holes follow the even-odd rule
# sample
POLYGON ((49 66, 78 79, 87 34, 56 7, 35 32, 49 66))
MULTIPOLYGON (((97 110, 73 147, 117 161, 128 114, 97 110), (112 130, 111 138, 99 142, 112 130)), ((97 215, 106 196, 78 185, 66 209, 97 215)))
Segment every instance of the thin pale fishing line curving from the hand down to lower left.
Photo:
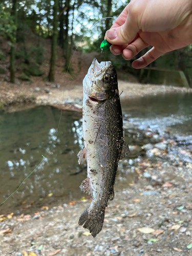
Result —
MULTIPOLYGON (((91 30, 97 23, 99 23, 101 20, 106 19, 106 18, 113 18, 113 19, 115 19, 114 17, 105 17, 105 18, 101 18, 101 19, 98 20, 96 23, 94 23, 88 31, 90 31, 90 30, 91 30)), ((84 38, 85 36, 86 36, 86 35, 84 35, 84 36, 81 38, 80 42, 83 40, 83 38, 84 38)), ((72 55, 72 57, 71 57, 71 60, 70 60, 70 62, 69 62, 69 66, 68 66, 68 69, 67 69, 66 76, 67 76, 67 74, 68 74, 68 72, 69 72, 69 68, 70 68, 72 59, 73 59, 73 57, 74 57, 74 55, 75 55, 75 53, 76 53, 76 51, 77 51, 77 48, 78 48, 78 46, 76 47, 75 52, 73 53, 73 55, 72 55)), ((103 52, 102 52, 102 54, 103 54, 103 52)), ((104 55, 103 55, 103 57, 104 57, 104 55)), ((105 58, 104 58, 104 60, 105 60, 105 58)), ((67 77, 66 77, 66 79, 67 79, 67 77)), ((65 79, 65 81, 66 81, 66 79, 65 79)), ((62 104, 64 103, 64 93, 65 93, 65 91, 63 90, 62 104)), ((61 109, 60 118, 59 118, 57 130, 56 130, 56 133, 55 133, 55 134, 58 133, 58 129, 59 129, 60 121, 61 121, 61 116, 62 116, 62 109, 61 109)), ((99 129, 100 129, 100 127, 99 127, 99 129)), ((98 131, 98 132, 99 132, 99 131, 98 131)), ((98 135, 98 134, 97 134, 97 135, 98 135)), ((97 137, 96 137, 96 139, 97 139, 97 137)), ((95 141, 96 141, 96 140, 95 140, 95 141)), ((22 184, 29 178, 29 176, 34 173, 34 171, 38 168, 38 166, 39 166, 39 165, 42 163, 42 161, 44 161, 44 159, 45 159, 45 156, 43 156, 43 155, 41 155, 41 156, 42 156, 43 158, 42 158, 42 160, 40 161, 40 163, 39 163, 39 164, 34 168, 34 170, 27 176, 27 178, 25 178, 25 179, 22 181, 22 183, 20 183, 20 185, 18 186, 18 188, 17 188, 4 202, 2 202, 0 205, 2 205, 3 203, 5 203, 13 194, 15 194, 15 192, 20 188, 20 186, 22 186, 22 184)))

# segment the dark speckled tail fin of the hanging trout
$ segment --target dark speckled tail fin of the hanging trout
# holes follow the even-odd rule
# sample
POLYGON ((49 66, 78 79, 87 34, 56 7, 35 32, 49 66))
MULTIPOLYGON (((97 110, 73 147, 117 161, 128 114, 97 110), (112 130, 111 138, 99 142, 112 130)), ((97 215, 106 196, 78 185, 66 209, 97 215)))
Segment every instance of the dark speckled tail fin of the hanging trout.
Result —
POLYGON ((104 206, 94 205, 93 208, 87 208, 79 218, 79 225, 89 229, 92 236, 95 238, 101 231, 104 221, 104 206))

